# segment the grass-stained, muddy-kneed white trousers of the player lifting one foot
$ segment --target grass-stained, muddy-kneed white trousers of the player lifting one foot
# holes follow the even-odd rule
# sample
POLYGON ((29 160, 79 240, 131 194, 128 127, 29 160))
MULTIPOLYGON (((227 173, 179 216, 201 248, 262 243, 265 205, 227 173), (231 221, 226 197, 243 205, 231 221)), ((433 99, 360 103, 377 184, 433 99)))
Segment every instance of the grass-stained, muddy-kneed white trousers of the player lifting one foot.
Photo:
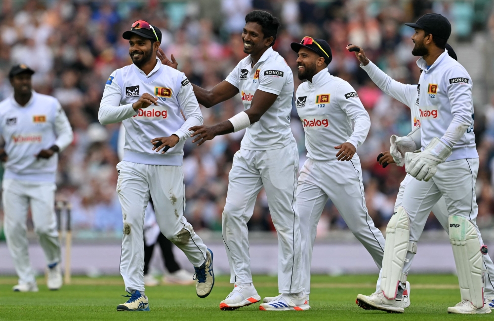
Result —
POLYGON ((153 199, 156 220, 165 237, 200 267, 206 246, 183 217, 185 183, 181 166, 145 165, 122 161, 117 165, 117 193, 122 205, 124 237, 120 273, 127 291, 144 291, 144 210, 153 199))

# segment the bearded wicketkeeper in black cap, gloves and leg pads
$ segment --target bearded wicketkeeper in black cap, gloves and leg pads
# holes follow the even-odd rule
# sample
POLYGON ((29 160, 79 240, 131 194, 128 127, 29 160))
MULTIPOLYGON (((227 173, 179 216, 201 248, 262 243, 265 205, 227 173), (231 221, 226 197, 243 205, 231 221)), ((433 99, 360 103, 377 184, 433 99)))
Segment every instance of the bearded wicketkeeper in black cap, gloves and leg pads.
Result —
POLYGON ((461 301, 448 308, 448 313, 491 313, 484 303, 482 256, 487 255, 487 247, 475 222, 479 159, 473 133, 472 81, 445 50, 451 34, 445 17, 430 13, 407 25, 415 29, 412 54, 421 56, 417 61, 422 70, 417 86, 421 151, 413 153, 416 146, 400 146, 405 153, 405 169, 416 179, 405 186, 402 205, 386 229, 381 291, 359 295, 359 299, 379 310, 404 312, 396 297, 410 269, 410 265, 404 268, 405 262, 416 252, 421 222, 444 196, 461 294, 461 301))

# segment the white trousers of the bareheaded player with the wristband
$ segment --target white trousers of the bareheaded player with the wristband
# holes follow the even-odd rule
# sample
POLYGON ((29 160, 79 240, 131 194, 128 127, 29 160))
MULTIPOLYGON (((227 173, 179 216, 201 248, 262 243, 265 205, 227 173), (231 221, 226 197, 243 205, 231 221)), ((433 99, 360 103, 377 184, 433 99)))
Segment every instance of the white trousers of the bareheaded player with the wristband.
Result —
POLYGON ((231 283, 252 282, 247 221, 253 214, 257 194, 264 186, 269 212, 278 232, 279 291, 302 291, 300 222, 295 198, 297 172, 295 140, 278 149, 240 149, 235 153, 222 217, 231 283))

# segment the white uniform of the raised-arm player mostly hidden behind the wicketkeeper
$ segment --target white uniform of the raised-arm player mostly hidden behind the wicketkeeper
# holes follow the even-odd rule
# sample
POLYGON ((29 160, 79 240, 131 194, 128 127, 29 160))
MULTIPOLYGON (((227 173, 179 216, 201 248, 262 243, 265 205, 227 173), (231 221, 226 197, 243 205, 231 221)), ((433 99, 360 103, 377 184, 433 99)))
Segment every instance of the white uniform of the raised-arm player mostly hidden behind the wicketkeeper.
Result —
MULTIPOLYGON (((390 76, 388 76, 386 73, 381 71, 376 65, 374 65, 372 62, 369 62, 367 66, 364 66, 363 64, 360 65, 362 69, 367 71, 369 74, 369 77, 371 77, 372 81, 386 94, 389 96, 393 97, 394 99, 400 101, 404 105, 410 107, 410 111, 412 114, 412 130, 414 130, 416 127, 420 127, 420 116, 423 115, 424 111, 419 107, 419 99, 418 95, 420 93, 420 86, 419 85, 406 85, 401 82, 398 82, 396 80, 393 80, 390 76)), ((437 113, 436 118, 437 118, 437 113)), ((427 115, 425 115, 427 117, 427 115)), ((434 118, 434 116, 432 116, 434 118)), ((402 201, 403 201, 403 194, 405 192, 405 187, 407 184, 415 180, 410 174, 407 174, 407 176, 403 179, 403 181, 400 183, 400 189, 398 191, 398 195, 396 197, 396 202, 395 202, 395 212, 397 211, 398 207, 402 206, 402 201)), ((448 226, 448 210, 446 207, 446 202, 444 200, 444 197, 441 197, 439 201, 433 205, 432 207, 432 213, 434 213, 434 216, 438 219, 438 221, 441 223, 443 228, 447 233, 449 233, 449 226, 448 226)), ((413 234, 416 235, 416 238, 420 238, 420 235, 422 234, 422 231, 424 229, 425 223, 427 221, 428 215, 425 215, 421 217, 420 219, 417 219, 415 223, 411 226, 414 229, 413 234)), ((475 221, 475 218, 472 218, 472 221, 475 221)), ((412 265, 412 260, 413 257, 415 256, 414 253, 409 252, 409 261, 405 262, 405 267, 406 270, 410 270, 410 266, 412 265)), ((486 285, 485 285, 485 293, 488 296, 493 296, 494 295, 494 264, 489 255, 483 255, 484 259, 484 265, 486 270, 488 271, 488 275, 486 277, 486 285), (493 280, 491 280, 491 275, 493 276, 493 280)), ((405 268, 404 268, 405 269, 405 268)))

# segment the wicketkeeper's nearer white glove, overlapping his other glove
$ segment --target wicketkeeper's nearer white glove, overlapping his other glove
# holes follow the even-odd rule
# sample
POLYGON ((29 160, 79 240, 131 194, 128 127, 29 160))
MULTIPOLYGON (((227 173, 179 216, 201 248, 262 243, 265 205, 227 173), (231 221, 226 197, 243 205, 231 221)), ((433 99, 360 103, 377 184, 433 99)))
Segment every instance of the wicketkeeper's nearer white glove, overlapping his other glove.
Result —
POLYGON ((434 137, 424 151, 405 154, 405 170, 418 180, 429 181, 436 174, 437 165, 443 163, 451 153, 450 146, 434 137))

